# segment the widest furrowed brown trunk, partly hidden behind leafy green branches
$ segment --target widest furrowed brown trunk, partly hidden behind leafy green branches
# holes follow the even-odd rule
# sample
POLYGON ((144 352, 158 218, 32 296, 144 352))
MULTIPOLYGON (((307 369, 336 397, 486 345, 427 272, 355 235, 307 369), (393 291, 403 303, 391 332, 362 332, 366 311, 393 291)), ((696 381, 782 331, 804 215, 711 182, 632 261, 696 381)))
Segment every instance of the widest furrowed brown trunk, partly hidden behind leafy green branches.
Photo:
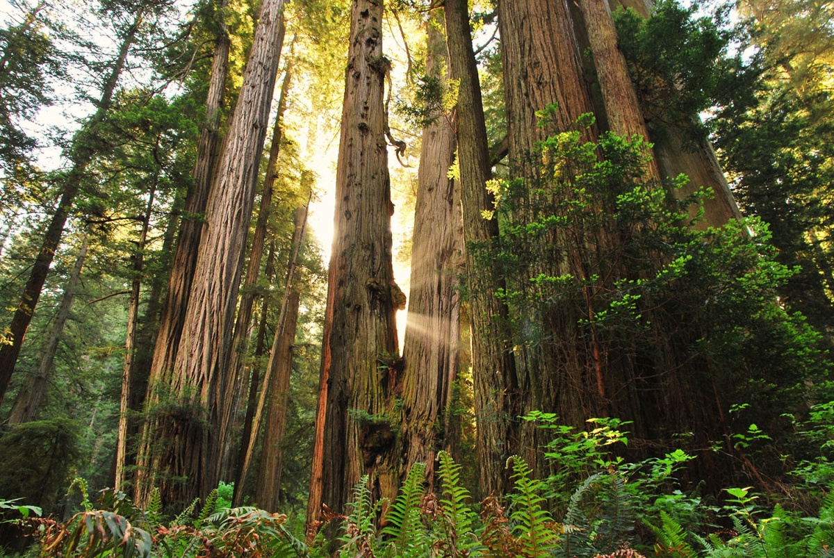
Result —
MULTIPOLYGON (((555 133, 575 129, 582 114, 594 112, 575 35, 574 14, 565 0, 501 0, 498 14, 511 173, 535 180, 540 166, 540 156, 535 154, 537 143, 555 133), (536 112, 552 104, 558 108, 549 115, 546 125, 540 125, 536 112)), ((585 128, 582 138, 595 141, 596 133, 596 125, 585 128)), ((525 219, 525 215, 515 215, 513 219, 516 218, 525 219)), ((576 271, 571 262, 580 259, 576 251, 584 248, 584 242, 574 242, 565 232, 553 234, 548 244, 555 254, 550 254, 549 261, 532 264, 520 278, 521 284, 514 288, 523 289, 530 284, 527 279, 542 274, 559 277, 569 270, 576 271)), ((573 315, 572 307, 541 309, 539 313, 523 309, 520 330, 536 333, 517 339, 521 347, 520 383, 525 412, 553 411, 561 420, 580 427, 588 412, 605 415, 605 369, 597 339, 589 339, 593 347, 587 363, 576 356, 586 356, 586 345, 575 331, 575 319, 593 314, 592 297, 586 294, 587 309, 583 315, 573 315), (567 347, 564 351, 562 344, 567 347), (581 363, 577 364, 579 360, 581 363), (590 394, 577 393, 574 385, 585 380, 593 381, 594 389, 590 394)), ((534 470, 542 472, 535 428, 526 426, 522 436, 525 459, 534 470)))

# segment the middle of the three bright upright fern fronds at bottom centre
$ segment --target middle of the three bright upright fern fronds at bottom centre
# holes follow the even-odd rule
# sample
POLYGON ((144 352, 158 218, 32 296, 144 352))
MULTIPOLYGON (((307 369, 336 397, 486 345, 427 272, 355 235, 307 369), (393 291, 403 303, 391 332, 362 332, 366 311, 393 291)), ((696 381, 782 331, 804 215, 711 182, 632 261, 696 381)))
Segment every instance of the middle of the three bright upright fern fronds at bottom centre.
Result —
POLYGON ((437 455, 440 462, 438 475, 440 476, 440 506, 439 520, 435 525, 440 526, 442 539, 438 541, 445 555, 468 555, 478 544, 473 532, 475 514, 466 505, 470 500, 469 490, 460 486, 461 465, 455 463, 452 456, 445 451, 437 455))

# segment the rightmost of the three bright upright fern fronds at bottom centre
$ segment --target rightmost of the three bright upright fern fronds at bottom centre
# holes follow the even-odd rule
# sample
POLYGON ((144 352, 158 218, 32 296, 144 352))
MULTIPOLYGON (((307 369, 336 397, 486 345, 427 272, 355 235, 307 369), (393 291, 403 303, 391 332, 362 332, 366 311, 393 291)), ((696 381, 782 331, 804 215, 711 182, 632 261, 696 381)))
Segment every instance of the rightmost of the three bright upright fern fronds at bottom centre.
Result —
POLYGON ((558 541, 553 530, 553 518, 541 503, 545 499, 540 495, 542 483, 531 478, 530 466, 518 455, 510 457, 513 462, 513 480, 515 492, 512 500, 515 511, 510 519, 515 521, 515 533, 521 550, 529 558, 549 555, 558 541))

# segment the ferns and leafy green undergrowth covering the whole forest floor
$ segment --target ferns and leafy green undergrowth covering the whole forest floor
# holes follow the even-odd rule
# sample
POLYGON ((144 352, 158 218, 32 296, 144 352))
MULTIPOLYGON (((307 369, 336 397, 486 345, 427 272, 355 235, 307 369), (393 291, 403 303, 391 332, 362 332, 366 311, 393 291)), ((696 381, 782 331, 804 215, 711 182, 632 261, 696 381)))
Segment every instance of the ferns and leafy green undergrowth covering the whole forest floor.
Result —
MULTIPOLYGON (((67 520, 39 517, 40 509, 15 501, 0 500, 0 509, 6 528, 21 529, 33 540, 23 554, 33 557, 304 557, 335 551, 344 557, 821 558, 834 555, 832 409, 815 406, 811 421, 797 430, 821 455, 797 464, 790 476, 796 484, 779 494, 734 486, 717 497, 705 494, 700 485, 679 480, 681 468, 696 459, 681 450, 625 461, 616 454, 628 443, 628 425, 609 419, 591 420, 590 430, 556 429, 546 455, 558 473, 548 478, 536 479, 525 460, 511 457, 510 494, 473 501, 461 482, 461 465, 441 451, 433 479, 417 463, 389 501, 374 500, 364 478, 344 515, 328 511, 307 534, 297 516, 231 508, 229 485, 176 516, 162 514, 158 491, 146 509, 113 490, 91 502, 80 479, 68 494, 80 510, 67 520), (324 536, 328 523, 339 526, 333 539, 324 536)), ((557 423, 542 413, 525 420, 551 433, 557 423)), ((753 438, 736 443, 756 444, 753 438)))

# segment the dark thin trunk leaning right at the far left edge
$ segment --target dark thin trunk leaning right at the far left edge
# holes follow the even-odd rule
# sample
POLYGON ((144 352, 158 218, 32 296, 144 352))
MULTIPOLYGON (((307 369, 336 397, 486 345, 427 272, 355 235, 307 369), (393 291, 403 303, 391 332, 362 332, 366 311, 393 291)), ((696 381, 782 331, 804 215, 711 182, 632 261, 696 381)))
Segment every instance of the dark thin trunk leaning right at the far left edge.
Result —
POLYGON ((46 234, 43 236, 43 244, 41 244, 38 250, 38 256, 35 258, 32 272, 29 274, 26 286, 23 287, 23 296, 21 296, 18 309, 15 310, 12 324, 9 326, 9 339, 12 342, 0 346, 0 403, 3 402, 3 397, 6 395, 15 364, 18 363, 20 349, 23 347, 23 338, 26 336, 26 331, 32 322, 35 307, 38 305, 38 299, 41 297, 43 284, 47 279, 49 266, 55 258, 55 250, 61 244, 63 228, 67 224, 73 202, 78 195, 78 191, 81 189, 81 183, 87 173, 87 167, 97 153, 98 143, 96 137, 99 132, 98 128, 102 125, 104 118, 110 110, 118 77, 124 69, 124 63, 128 58, 128 51, 136 39, 143 18, 144 9, 139 8, 133 18, 133 24, 127 29, 122 43, 119 45, 118 57, 115 63, 113 63, 113 68, 104 81, 102 95, 98 99, 96 112, 83 124, 82 128, 75 134, 75 138, 73 138, 73 145, 69 153, 72 166, 63 179, 61 198, 58 201, 58 206, 55 208, 53 218, 49 221, 46 234))

